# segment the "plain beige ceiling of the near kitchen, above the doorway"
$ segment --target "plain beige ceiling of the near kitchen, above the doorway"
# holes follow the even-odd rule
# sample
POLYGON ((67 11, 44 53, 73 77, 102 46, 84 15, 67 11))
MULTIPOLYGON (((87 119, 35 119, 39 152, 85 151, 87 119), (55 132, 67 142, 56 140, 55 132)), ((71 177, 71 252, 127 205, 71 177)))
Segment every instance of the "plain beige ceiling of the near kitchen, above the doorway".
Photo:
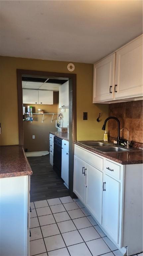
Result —
POLYGON ((142 1, 0 1, 1 55, 95 63, 142 33, 142 1))

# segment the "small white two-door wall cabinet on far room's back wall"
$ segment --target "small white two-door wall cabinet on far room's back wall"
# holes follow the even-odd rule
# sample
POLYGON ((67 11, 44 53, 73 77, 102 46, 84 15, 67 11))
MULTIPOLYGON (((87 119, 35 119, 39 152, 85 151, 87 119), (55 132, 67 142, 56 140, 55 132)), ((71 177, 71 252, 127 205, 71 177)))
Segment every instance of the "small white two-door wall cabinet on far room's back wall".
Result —
POLYGON ((53 91, 23 89, 24 104, 53 104, 53 91))

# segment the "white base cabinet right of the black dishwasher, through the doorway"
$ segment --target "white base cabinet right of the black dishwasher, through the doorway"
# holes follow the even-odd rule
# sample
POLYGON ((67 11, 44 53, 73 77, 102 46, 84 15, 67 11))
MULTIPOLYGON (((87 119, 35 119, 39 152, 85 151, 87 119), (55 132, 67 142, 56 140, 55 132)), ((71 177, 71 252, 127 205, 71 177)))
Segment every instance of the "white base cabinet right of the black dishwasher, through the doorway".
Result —
POLYGON ((64 180, 64 185, 69 187, 69 142, 62 140, 62 167, 61 177, 64 180))

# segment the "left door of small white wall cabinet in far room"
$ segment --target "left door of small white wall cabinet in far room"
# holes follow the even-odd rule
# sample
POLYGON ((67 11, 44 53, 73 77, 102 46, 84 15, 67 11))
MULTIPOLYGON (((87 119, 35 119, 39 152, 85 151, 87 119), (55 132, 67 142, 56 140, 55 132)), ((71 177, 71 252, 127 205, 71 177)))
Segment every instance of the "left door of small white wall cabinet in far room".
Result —
POLYGON ((24 104, 38 104, 38 91, 23 89, 24 104))

